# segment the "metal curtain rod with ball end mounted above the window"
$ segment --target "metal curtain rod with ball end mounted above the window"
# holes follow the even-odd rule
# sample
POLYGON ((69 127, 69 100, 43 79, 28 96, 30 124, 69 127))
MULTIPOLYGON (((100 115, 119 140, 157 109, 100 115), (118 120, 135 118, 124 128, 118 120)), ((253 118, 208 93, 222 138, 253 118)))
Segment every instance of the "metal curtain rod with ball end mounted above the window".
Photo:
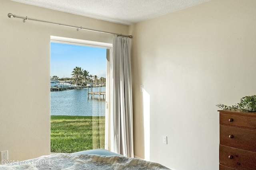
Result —
POLYGON ((34 19, 34 18, 16 16, 16 15, 13 15, 13 14, 11 14, 11 13, 8 14, 8 17, 9 17, 9 18, 22 18, 22 19, 23 19, 23 22, 25 22, 26 20, 47 22, 47 23, 52 23, 52 24, 61 25, 61 26, 65 26, 65 27, 76 28, 77 31, 78 31, 79 29, 84 29, 84 30, 88 30, 88 31, 94 31, 94 32, 99 32, 99 33, 108 33, 108 34, 113 34, 113 35, 119 35, 119 36, 123 36, 123 37, 132 38, 132 35, 123 35, 123 34, 117 34, 117 33, 107 32, 107 31, 100 31, 100 30, 97 30, 97 29, 90 29, 90 28, 78 27, 78 26, 74 26, 74 25, 66 25, 66 24, 63 24, 63 23, 56 23, 56 22, 52 22, 52 21, 44 21, 44 20, 38 20, 38 19, 34 19))

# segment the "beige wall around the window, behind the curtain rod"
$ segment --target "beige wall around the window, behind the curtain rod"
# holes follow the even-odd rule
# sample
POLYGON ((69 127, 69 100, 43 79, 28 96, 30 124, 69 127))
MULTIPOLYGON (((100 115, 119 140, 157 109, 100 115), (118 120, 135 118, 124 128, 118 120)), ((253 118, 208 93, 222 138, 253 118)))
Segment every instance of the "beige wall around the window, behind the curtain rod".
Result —
POLYGON ((9 160, 50 154, 50 35, 112 43, 112 35, 7 14, 128 33, 128 26, 0 0, 0 151, 9 160))

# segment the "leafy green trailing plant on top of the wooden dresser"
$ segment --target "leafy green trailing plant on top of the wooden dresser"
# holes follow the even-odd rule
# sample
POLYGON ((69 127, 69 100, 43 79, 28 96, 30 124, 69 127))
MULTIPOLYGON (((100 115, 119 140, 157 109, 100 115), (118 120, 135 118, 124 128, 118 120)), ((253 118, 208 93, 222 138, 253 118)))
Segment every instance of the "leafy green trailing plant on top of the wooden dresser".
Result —
POLYGON ((221 109, 241 109, 246 112, 256 112, 256 95, 253 96, 245 96, 240 100, 240 103, 234 106, 226 106, 224 104, 218 104, 217 107, 221 109))

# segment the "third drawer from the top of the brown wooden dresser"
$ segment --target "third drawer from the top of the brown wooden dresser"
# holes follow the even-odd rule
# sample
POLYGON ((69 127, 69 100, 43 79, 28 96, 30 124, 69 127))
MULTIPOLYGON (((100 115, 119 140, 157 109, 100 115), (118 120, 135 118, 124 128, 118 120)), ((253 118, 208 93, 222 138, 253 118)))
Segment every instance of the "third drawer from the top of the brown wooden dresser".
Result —
POLYGON ((256 170, 256 152, 220 145, 220 164, 239 170, 256 170))

